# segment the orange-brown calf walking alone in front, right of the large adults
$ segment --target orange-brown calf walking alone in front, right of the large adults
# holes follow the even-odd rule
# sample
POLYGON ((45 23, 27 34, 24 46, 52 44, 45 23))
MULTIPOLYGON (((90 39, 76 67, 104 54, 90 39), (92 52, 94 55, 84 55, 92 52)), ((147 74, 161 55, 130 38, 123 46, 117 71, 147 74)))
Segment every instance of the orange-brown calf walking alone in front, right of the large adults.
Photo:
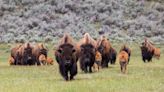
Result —
POLYGON ((125 51, 121 51, 118 55, 119 58, 119 63, 120 63, 120 68, 122 73, 126 73, 127 70, 127 64, 128 64, 128 59, 129 55, 125 51))

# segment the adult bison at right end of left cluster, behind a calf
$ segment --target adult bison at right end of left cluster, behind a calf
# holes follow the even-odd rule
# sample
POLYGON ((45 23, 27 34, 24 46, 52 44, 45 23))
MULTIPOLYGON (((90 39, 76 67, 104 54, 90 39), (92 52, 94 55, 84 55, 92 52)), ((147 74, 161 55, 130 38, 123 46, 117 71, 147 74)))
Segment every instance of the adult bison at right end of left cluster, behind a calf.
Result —
POLYGON ((32 50, 32 54, 33 54, 35 63, 37 65, 41 65, 42 62, 39 61, 39 56, 41 54, 43 54, 45 56, 45 58, 47 58, 47 53, 48 53, 47 48, 45 48, 45 46, 42 43, 35 44, 34 48, 32 50))

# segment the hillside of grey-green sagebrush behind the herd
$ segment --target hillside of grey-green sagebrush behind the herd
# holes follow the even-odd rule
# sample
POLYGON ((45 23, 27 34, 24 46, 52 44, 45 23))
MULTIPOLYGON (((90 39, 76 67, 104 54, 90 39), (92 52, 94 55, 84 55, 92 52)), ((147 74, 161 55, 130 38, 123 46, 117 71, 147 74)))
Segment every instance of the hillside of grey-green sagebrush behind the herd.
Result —
POLYGON ((0 42, 54 42, 64 32, 164 43, 164 1, 0 0, 0 42))

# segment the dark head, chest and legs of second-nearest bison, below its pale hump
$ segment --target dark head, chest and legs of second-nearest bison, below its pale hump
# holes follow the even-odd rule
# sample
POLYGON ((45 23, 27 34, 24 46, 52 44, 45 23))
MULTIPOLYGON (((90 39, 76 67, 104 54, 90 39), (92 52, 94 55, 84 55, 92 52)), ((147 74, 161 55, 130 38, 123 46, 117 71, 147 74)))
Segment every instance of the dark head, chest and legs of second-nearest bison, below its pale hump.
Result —
POLYGON ((80 67, 85 73, 92 72, 92 66, 95 62, 95 50, 91 44, 83 44, 80 46, 80 67), (89 68, 89 71, 88 71, 89 68))

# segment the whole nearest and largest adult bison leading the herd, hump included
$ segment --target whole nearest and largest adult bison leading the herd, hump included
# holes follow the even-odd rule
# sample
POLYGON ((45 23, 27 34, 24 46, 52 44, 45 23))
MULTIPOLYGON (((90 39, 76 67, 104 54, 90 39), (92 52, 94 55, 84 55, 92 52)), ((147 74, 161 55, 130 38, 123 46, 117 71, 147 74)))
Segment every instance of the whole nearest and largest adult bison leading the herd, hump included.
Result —
POLYGON ((76 45, 68 34, 61 39, 55 51, 55 57, 59 64, 60 74, 67 80, 73 80, 77 74, 77 49, 76 45), (70 73, 70 76, 69 74, 70 73))

